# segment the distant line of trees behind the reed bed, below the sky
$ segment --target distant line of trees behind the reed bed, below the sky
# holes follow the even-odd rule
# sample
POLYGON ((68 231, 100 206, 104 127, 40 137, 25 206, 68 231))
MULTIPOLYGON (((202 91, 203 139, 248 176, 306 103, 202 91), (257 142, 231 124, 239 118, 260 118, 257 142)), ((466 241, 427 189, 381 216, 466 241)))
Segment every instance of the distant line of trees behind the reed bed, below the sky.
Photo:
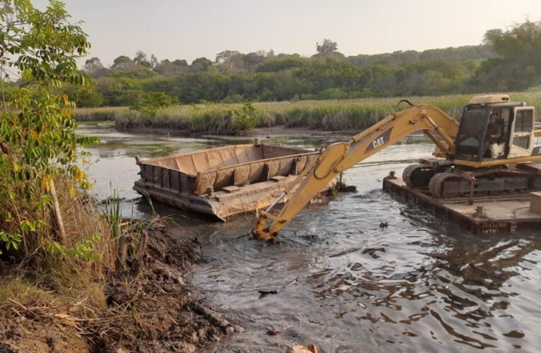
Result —
POLYGON ((88 59, 95 90, 68 90, 79 107, 134 106, 149 92, 173 102, 244 102, 444 95, 525 90, 541 83, 541 25, 489 30, 477 46, 344 56, 325 40, 317 54, 227 50, 214 61, 158 61, 144 52, 119 56, 110 68, 88 59))

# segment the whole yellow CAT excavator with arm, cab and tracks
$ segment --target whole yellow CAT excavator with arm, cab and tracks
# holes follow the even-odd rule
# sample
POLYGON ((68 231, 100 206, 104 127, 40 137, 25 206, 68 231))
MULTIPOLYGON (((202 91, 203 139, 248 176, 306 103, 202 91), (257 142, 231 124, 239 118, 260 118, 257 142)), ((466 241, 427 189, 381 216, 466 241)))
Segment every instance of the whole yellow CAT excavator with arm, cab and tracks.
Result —
POLYGON ((296 182, 260 213, 252 229, 255 239, 277 242, 280 229, 340 172, 405 136, 423 131, 436 145, 434 160, 408 166, 402 177, 407 185, 428 188, 436 197, 471 193, 508 193, 541 189, 541 126, 536 129, 535 109, 525 102, 511 102, 508 95, 472 97, 458 124, 431 104, 414 105, 393 112, 347 142, 322 149, 296 182), (473 189, 472 189, 473 181, 473 189), (291 193, 277 215, 271 213, 281 198, 291 193))

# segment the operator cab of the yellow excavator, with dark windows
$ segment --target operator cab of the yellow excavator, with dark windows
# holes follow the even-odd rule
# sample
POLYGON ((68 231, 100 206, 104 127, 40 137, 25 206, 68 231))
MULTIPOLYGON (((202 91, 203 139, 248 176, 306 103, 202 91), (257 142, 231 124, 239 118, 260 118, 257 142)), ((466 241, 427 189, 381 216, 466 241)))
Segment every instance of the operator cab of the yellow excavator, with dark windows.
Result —
POLYGON ((455 160, 487 162, 537 154, 534 119, 533 107, 509 102, 508 95, 473 97, 463 110, 455 160))

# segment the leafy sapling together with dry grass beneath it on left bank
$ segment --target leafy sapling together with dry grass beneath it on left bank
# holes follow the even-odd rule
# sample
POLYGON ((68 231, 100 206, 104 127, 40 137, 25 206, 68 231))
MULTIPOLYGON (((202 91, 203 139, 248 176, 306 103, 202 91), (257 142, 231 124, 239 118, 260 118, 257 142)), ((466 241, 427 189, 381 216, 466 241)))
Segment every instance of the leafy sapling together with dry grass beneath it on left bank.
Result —
POLYGON ((63 92, 88 85, 76 61, 89 47, 59 1, 44 11, 0 1, 1 313, 14 303, 50 317, 69 308, 63 318, 76 326, 74 315, 106 309, 100 280, 114 269, 110 226, 84 200, 90 184, 77 167, 86 157, 79 147, 93 139, 77 136, 63 92), (24 85, 10 83, 16 73, 24 85))

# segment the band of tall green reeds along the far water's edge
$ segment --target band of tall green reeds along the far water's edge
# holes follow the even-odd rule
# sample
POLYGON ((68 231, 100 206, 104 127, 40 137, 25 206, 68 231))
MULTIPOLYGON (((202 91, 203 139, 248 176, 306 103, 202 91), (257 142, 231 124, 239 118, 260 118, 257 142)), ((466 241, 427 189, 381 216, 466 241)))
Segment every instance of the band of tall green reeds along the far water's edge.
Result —
MULTIPOLYGON (((540 90, 511 92, 512 100, 528 102, 541 112, 540 90)), ((472 95, 407 97, 415 104, 429 103, 460 118, 464 105, 472 95)), ((307 100, 293 102, 256 102, 252 104, 188 104, 161 109, 155 116, 145 116, 127 108, 77 109, 77 119, 92 120, 108 116, 118 128, 172 128, 190 132, 231 133, 251 127, 306 127, 327 131, 360 131, 376 123, 396 109, 397 98, 366 98, 360 100, 307 100), (246 107, 250 124, 235 124, 246 107)))

